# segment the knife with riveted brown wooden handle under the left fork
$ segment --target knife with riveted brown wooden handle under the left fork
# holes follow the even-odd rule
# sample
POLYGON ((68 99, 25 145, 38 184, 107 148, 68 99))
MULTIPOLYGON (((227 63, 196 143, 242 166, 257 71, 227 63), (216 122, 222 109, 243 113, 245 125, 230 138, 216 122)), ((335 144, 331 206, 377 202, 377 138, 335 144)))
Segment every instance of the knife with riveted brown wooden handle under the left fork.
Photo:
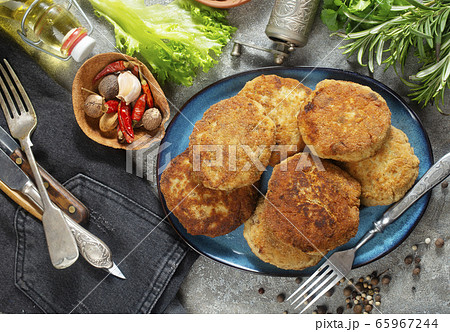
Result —
MULTIPOLYGON (((1 126, 0 149, 6 152, 6 154, 16 162, 25 174, 31 179, 34 178, 31 167, 19 145, 1 126)), ((89 210, 41 166, 38 165, 38 167, 44 182, 48 184, 47 192, 52 202, 63 212, 70 215, 71 219, 75 220, 77 223, 85 224, 89 220, 89 210)))

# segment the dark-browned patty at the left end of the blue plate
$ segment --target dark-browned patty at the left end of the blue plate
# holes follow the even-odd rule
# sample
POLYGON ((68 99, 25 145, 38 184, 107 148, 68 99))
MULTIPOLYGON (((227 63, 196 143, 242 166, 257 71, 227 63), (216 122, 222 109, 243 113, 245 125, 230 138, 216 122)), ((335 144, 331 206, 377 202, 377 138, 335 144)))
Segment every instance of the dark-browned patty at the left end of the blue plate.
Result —
POLYGON ((227 192, 196 182, 188 150, 170 162, 160 185, 167 207, 192 235, 227 234, 247 220, 256 206, 257 191, 253 186, 227 192))

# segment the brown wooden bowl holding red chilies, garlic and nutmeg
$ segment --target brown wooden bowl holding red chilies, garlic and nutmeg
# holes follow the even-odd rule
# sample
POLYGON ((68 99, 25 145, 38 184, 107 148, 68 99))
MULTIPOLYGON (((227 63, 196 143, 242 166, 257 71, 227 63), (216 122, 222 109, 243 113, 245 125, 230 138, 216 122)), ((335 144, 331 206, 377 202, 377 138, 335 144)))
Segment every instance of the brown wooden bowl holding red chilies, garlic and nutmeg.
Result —
POLYGON ((161 140, 165 135, 164 124, 169 120, 170 108, 164 92, 155 80, 150 70, 136 58, 121 54, 121 53, 102 53, 87 60, 78 70, 72 84, 72 104, 75 113, 75 118, 81 130, 93 141, 109 146, 114 149, 139 150, 149 147, 153 142, 161 140), (103 133, 99 128, 99 119, 93 119, 87 116, 84 112, 83 105, 86 98, 90 95, 89 92, 82 88, 97 92, 99 82, 93 84, 93 79, 103 68, 110 63, 117 60, 129 60, 137 62, 141 66, 150 90, 153 94, 155 107, 161 111, 162 121, 161 125, 152 131, 147 131, 144 128, 135 128, 134 142, 131 144, 120 143, 117 139, 117 131, 110 133, 103 133))

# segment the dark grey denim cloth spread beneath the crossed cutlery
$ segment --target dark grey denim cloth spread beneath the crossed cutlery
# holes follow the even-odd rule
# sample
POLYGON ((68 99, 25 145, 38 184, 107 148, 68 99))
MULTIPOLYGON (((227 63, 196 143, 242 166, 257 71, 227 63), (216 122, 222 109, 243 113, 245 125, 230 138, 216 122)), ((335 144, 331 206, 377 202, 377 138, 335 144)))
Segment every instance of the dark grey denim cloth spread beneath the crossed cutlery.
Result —
MULTIPOLYGON (((110 246, 116 262, 124 259, 120 268, 127 280, 109 276, 85 298, 106 273, 82 257, 67 270, 55 270, 41 225, 23 211, 16 213, 15 203, 0 193, 0 312, 70 312, 77 305, 74 312, 183 312, 171 302, 197 254, 161 222, 162 208, 147 181, 126 172, 123 150, 85 136, 70 93, 0 31, 2 58, 13 66, 35 107, 37 161, 60 182, 71 179, 67 186, 91 210, 88 229, 110 246)), ((7 129, 3 116, 0 125, 7 129)))

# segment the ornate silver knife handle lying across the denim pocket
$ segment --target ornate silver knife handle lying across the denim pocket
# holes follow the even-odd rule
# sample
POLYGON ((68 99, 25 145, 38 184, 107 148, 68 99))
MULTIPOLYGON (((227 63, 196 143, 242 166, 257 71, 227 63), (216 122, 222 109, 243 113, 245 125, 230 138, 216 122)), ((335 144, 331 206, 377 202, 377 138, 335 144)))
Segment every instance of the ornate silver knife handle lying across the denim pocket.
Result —
MULTIPOLYGON (((42 200, 36 187, 31 185, 27 188, 26 194, 37 206, 42 208, 42 200)), ((63 215, 67 226, 69 226, 69 229, 75 238, 80 254, 86 261, 97 268, 111 268, 113 266, 113 261, 111 250, 108 246, 95 235, 78 225, 69 216, 64 213, 63 215)))

